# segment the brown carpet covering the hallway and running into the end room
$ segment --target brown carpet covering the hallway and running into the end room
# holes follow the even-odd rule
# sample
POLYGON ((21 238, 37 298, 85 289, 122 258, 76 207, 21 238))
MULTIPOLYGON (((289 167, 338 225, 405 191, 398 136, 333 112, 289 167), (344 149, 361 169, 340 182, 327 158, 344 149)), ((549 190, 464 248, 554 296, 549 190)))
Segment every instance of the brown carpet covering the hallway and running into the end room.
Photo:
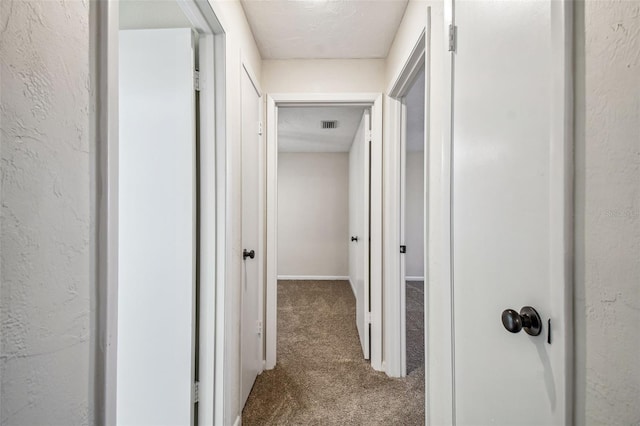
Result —
POLYGON ((392 379, 362 358, 346 281, 278 283, 278 364, 257 379, 243 425, 421 425, 424 369, 392 379))

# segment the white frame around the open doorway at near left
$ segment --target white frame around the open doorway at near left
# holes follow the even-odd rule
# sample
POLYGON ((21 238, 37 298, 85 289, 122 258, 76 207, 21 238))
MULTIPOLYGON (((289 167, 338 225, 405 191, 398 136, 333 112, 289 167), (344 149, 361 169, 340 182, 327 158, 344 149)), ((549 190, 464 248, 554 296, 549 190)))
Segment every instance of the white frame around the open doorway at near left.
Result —
MULTIPOLYGON (((225 40, 224 30, 207 0, 178 0, 199 34, 200 66, 200 425, 213 424, 222 374, 215 354, 224 335, 216 318, 224 305, 216 283, 224 282, 225 262, 225 40), (211 259, 215 260, 215 265, 211 259)), ((116 424, 118 330, 118 56, 119 4, 100 0, 95 11, 97 59, 95 419, 116 424)), ((219 321, 218 321, 219 322, 219 321)), ((94 333, 92 333, 94 335, 94 333)), ((221 407, 221 406, 220 406, 221 407)))

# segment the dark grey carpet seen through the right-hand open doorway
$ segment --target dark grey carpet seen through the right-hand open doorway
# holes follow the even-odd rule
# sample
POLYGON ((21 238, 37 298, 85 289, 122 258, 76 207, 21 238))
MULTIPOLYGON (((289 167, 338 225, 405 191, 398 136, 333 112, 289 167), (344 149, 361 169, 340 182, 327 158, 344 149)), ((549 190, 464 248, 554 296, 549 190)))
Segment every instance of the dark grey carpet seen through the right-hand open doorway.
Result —
POLYGON ((424 368, 424 281, 407 281, 407 374, 424 368))

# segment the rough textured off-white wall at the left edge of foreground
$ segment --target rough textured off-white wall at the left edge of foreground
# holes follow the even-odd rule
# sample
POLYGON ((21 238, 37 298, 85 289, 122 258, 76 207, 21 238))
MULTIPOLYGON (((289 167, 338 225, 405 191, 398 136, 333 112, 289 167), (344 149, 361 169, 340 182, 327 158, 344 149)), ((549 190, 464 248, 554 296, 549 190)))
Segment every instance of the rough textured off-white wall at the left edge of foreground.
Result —
POLYGON ((2 425, 90 422, 88 22, 0 2, 2 425))

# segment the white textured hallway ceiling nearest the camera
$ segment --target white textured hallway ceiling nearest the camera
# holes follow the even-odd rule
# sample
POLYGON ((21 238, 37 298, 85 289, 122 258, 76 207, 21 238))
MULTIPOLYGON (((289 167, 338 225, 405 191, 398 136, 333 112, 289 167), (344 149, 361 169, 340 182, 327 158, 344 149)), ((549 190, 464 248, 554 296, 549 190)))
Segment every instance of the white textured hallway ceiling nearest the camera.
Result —
POLYGON ((242 0, 262 59, 386 58, 408 0, 242 0))

